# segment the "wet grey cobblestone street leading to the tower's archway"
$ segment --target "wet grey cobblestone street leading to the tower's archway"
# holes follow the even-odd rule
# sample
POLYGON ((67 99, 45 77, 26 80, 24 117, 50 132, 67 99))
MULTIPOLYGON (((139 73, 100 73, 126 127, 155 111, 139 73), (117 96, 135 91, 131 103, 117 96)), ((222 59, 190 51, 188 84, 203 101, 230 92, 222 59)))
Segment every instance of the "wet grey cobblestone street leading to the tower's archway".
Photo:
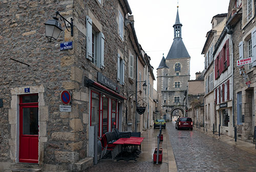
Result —
POLYGON ((256 171, 256 156, 244 150, 199 131, 176 130, 174 122, 167 131, 178 171, 256 171))

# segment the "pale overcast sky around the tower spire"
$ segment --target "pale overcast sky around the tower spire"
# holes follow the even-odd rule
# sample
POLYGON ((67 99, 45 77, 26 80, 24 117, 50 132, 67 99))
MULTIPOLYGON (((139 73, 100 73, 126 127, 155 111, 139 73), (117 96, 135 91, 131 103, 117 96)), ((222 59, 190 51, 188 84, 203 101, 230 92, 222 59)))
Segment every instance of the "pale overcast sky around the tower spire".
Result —
MULTIPOLYGON (((134 15, 134 27, 142 49, 151 57, 154 75, 166 58, 173 43, 177 14, 177 0, 128 0, 134 15)), ((204 56, 201 55, 206 33, 211 30, 211 19, 227 13, 229 0, 179 0, 179 16, 182 26, 182 40, 190 55, 190 79, 196 79, 196 72, 204 70, 204 56)), ((157 89, 157 83, 154 82, 157 89)))

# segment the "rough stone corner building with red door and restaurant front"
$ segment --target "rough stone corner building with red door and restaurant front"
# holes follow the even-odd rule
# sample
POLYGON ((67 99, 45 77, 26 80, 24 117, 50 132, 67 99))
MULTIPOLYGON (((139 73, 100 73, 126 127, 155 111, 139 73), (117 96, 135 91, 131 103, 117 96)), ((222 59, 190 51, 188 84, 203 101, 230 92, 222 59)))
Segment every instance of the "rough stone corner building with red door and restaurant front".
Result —
POLYGON ((129 93, 136 92, 136 58, 144 57, 129 4, 16 0, 0 10, 0 170, 22 162, 42 171, 86 169, 96 157, 94 137, 127 131, 135 119, 129 93), (74 35, 59 20, 64 31, 48 42, 44 23, 56 11, 73 18, 74 35), (73 49, 60 51, 68 41, 73 49), (71 112, 60 110, 62 91, 71 94, 71 112))

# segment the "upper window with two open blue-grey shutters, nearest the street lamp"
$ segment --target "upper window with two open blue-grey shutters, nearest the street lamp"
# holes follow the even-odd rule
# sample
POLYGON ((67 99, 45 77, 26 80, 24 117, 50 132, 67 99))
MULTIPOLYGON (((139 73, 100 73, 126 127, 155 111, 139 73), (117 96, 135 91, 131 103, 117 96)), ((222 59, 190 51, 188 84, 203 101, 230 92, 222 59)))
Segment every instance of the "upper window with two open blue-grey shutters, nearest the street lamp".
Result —
POLYGON ((91 60, 98 68, 104 68, 104 40, 103 33, 93 28, 92 19, 86 16, 86 58, 91 60))

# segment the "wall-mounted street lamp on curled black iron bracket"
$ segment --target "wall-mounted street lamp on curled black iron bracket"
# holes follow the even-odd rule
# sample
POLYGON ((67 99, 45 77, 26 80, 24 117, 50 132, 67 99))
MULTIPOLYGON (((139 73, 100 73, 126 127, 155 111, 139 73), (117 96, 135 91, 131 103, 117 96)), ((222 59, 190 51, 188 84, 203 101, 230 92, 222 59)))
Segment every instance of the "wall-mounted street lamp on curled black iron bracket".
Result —
POLYGON ((57 40, 59 34, 61 33, 62 28, 60 23, 58 22, 58 18, 57 16, 60 16, 60 20, 64 20, 66 29, 71 32, 71 36, 73 36, 73 18, 71 18, 71 22, 69 22, 65 17, 63 17, 62 15, 59 14, 59 12, 56 12, 56 16, 53 17, 53 19, 49 19, 47 20, 47 22, 45 23, 46 26, 46 37, 48 38, 49 42, 52 42, 54 40, 57 40), (66 22, 68 23, 68 25, 66 24, 66 22), (68 29, 70 28, 70 30, 68 29))

